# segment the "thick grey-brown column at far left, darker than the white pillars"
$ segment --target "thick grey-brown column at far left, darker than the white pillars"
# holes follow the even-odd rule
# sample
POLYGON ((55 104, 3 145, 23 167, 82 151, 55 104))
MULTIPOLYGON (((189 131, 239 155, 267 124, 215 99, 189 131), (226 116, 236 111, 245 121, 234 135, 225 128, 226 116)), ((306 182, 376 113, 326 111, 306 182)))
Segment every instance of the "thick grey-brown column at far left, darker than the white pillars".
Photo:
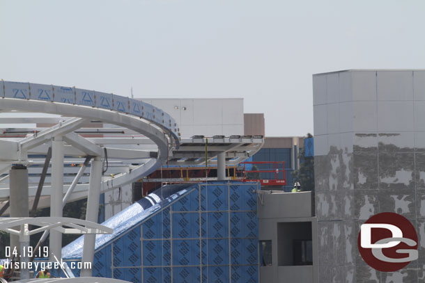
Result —
MULTIPOLYGON (((24 165, 13 165, 9 171, 10 217, 29 217, 28 170, 24 165)), ((19 227, 15 227, 19 229, 19 227)), ((10 234, 10 250, 20 250, 20 237, 10 234)))

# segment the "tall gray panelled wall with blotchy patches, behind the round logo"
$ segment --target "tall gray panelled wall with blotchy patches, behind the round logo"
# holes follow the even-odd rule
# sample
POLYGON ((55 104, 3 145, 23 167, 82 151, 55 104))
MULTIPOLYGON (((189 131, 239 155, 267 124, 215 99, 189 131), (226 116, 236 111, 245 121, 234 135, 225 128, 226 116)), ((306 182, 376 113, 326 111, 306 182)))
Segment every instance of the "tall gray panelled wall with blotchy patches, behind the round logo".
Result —
POLYGON ((423 280, 425 71, 351 70, 313 83, 319 282, 423 280), (419 260, 396 273, 370 268, 357 250, 360 225, 386 211, 419 233, 419 260))

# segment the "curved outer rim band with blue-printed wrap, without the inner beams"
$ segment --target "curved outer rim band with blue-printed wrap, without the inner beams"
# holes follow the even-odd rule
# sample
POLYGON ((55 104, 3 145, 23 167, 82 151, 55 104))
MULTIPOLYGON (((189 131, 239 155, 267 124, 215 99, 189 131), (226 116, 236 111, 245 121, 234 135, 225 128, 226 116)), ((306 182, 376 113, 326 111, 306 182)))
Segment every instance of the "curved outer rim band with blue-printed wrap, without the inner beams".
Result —
MULTIPOLYGON (((167 162, 180 145, 175 120, 159 108, 118 95, 36 83, 0 81, 0 109, 50 113, 102 121, 136 131, 157 145, 156 158, 102 181, 103 190, 130 184, 167 162)), ((33 137, 35 138, 35 137, 33 137)), ((1 140, 2 145, 8 143, 1 140)), ((2 147, 6 149, 7 147, 2 147)), ((6 152, 2 152, 6 154, 6 152)))

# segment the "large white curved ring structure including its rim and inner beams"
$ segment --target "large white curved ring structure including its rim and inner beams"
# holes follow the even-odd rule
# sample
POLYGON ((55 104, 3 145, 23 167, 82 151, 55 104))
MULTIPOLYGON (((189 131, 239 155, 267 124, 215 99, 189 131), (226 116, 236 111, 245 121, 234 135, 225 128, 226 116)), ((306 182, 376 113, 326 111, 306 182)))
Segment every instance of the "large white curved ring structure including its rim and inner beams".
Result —
MULTIPOLYGON (((120 161, 120 156, 123 156, 122 160, 128 163, 134 156, 137 165, 123 166, 122 172, 114 172, 113 177, 109 175, 102 177, 102 191, 130 184, 160 168, 180 143, 175 121, 159 108, 136 99, 93 90, 0 81, 0 111, 65 116, 56 126, 43 129, 37 134, 27 135, 26 138, 7 136, 0 138, 0 163, 3 165, 3 172, 0 172, 0 175, 7 172, 8 165, 13 163, 31 164, 27 158, 28 154, 46 154, 51 139, 58 133, 68 137, 68 141, 65 140, 68 144, 65 155, 73 157, 73 160, 93 155, 105 160, 103 149, 107 145, 91 143, 90 140, 74 133, 91 121, 113 124, 131 132, 132 136, 148 138, 155 143, 157 151, 157 154, 144 152, 140 150, 143 147, 138 148, 135 145, 130 149, 108 148, 107 152, 113 155, 111 160, 120 161), (70 117, 81 119, 72 120, 70 117), (143 162, 139 163, 141 159, 143 162)), ((57 120, 52 119, 55 121, 52 124, 57 120)), ((84 159, 81 159, 80 163, 82 161, 84 159)), ((6 188, 3 186, 3 189, 6 188)), ((74 199, 84 197, 87 189, 88 184, 78 185, 74 199)), ((45 193, 48 194, 48 191, 47 188, 45 193)))

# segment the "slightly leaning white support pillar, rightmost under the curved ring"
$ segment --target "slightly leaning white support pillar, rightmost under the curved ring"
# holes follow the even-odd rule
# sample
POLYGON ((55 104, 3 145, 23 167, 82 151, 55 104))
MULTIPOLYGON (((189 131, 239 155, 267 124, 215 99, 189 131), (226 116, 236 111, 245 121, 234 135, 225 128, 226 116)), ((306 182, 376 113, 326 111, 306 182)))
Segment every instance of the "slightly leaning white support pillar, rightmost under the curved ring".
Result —
MULTIPOLYGON (((91 162, 90 170, 90 188, 88 189, 87 199, 87 213, 86 220, 98 223, 99 214, 99 197, 100 197, 100 184, 102 181, 102 161, 100 157, 95 157, 91 162)), ((82 262, 91 262, 93 265, 93 258, 95 254, 95 239, 96 235, 84 235, 83 257, 82 262)), ((91 277, 92 270, 83 268, 81 277, 91 277)))

